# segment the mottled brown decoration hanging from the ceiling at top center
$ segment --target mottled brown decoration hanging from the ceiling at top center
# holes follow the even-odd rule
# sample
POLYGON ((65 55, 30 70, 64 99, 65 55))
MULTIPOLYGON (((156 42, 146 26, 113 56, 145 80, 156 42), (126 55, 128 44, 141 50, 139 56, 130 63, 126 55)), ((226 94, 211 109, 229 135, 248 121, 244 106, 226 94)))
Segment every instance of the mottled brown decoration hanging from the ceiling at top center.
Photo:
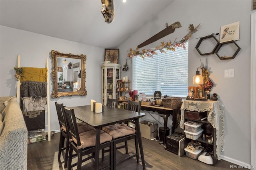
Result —
POLYGON ((115 9, 113 0, 101 0, 101 13, 106 23, 111 23, 115 19, 115 9))

